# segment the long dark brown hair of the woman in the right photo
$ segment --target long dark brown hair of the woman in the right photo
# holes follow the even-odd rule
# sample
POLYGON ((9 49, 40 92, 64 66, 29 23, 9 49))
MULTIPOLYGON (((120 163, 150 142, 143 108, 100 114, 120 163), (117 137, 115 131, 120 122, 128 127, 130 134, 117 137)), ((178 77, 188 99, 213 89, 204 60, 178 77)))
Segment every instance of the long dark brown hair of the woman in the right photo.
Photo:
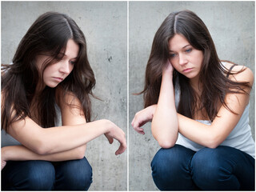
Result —
MULTIPOLYGON (((244 88, 250 86, 249 82, 233 82, 223 75, 230 72, 225 66, 222 66, 206 25, 190 10, 169 14, 154 36, 150 58, 146 66, 145 87, 141 92, 144 94, 144 106, 158 102, 162 70, 166 67, 166 61, 170 57, 168 42, 175 34, 184 36, 194 49, 202 50, 203 53, 202 70, 199 78, 199 81, 203 82, 199 108, 194 89, 190 86, 190 79, 174 70, 174 86, 178 80, 181 90, 178 113, 194 118, 196 109, 205 109, 206 118, 213 121, 218 113, 219 102, 230 110, 224 99, 227 93, 246 94, 244 88)), ((234 113, 234 111, 232 112, 234 113)))

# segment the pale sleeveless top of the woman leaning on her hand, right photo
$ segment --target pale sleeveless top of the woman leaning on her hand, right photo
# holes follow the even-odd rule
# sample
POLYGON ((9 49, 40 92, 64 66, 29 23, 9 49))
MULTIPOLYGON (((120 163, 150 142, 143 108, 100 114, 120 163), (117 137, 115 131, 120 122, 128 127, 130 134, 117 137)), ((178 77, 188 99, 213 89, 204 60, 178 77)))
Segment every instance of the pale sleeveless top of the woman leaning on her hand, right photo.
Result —
MULTIPOLYGON (((178 79, 177 79, 178 80, 178 79)), ((180 100, 180 86, 178 81, 176 81, 175 85, 175 106, 178 108, 178 103, 180 100)), ((210 125, 211 122, 207 120, 196 120, 198 122, 202 122, 206 125, 210 125)), ((189 138, 186 138, 182 134, 178 133, 178 140, 176 144, 185 146, 190 150, 198 151, 203 147, 196 142, 192 142, 189 138)), ((227 136, 224 142, 220 144, 220 146, 231 146, 235 149, 242 150, 246 154, 250 154, 250 156, 255 158, 255 142, 252 138, 251 128, 249 125, 249 104, 246 106, 242 117, 240 118, 238 124, 234 127, 234 130, 227 136)))

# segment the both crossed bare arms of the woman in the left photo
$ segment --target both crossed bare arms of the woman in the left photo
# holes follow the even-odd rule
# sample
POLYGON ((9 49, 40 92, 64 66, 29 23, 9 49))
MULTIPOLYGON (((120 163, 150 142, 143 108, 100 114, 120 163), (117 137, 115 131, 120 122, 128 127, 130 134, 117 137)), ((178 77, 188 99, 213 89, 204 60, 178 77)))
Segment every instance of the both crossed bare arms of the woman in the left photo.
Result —
MULTIPOLYGON (((67 102, 79 105, 78 100, 71 95, 66 99, 67 102)), ((122 154, 126 150, 125 134, 113 122, 103 119, 86 123, 79 108, 70 108, 62 102, 59 104, 63 126, 44 129, 30 118, 12 123, 8 133, 23 146, 2 148, 5 157, 8 157, 6 160, 64 161, 82 158, 86 143, 102 134, 105 134, 110 142, 113 142, 113 139, 120 142, 116 154, 122 154)))

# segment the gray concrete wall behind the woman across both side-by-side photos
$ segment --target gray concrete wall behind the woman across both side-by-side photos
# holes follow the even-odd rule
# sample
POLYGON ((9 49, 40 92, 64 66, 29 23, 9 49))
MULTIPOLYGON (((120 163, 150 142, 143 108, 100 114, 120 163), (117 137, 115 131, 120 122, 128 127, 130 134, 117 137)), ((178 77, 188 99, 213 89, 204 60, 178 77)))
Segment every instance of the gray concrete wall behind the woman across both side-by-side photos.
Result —
MULTIPOLYGON (((130 126, 142 110, 146 62, 158 27, 170 12, 193 10, 208 26, 219 57, 249 66, 254 71, 254 2, 129 2, 129 131, 127 116, 127 2, 2 2, 2 63, 9 63, 18 42, 34 20, 54 10, 69 14, 86 36, 90 64, 97 84, 93 100, 95 119, 108 118, 129 132, 127 153, 118 157, 104 136, 88 143, 86 158, 94 169, 90 190, 157 190, 150 162, 159 149, 150 131, 137 134, 130 126), (129 173, 127 172, 129 168, 129 173)), ((250 100, 250 125, 254 132, 254 89, 250 100)))

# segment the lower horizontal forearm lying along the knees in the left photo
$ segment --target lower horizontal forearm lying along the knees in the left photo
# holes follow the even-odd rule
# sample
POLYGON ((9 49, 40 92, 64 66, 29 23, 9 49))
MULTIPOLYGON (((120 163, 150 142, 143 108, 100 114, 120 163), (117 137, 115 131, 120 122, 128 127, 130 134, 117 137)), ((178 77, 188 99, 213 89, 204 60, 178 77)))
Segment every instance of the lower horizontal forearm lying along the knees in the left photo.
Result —
POLYGON ((1 148, 2 159, 5 161, 27 161, 27 160, 44 160, 50 162, 61 162, 67 160, 80 159, 84 157, 85 146, 79 146, 72 150, 66 150, 56 154, 36 154, 34 151, 27 149, 25 146, 5 146, 1 148))

